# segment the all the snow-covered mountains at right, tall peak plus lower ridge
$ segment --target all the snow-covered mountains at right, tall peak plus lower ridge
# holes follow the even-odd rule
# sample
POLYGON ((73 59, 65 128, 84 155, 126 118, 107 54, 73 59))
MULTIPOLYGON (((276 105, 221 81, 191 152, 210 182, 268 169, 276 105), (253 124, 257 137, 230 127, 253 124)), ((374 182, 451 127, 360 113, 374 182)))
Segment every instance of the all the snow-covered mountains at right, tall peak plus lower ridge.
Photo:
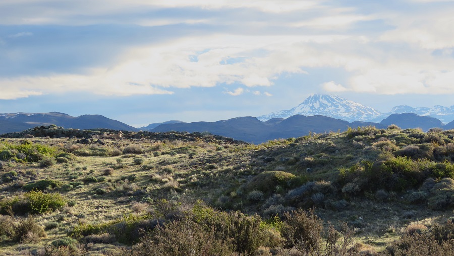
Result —
POLYGON ((432 108, 413 108, 407 105, 400 105, 392 108, 390 112, 380 113, 371 107, 361 105, 339 96, 315 94, 292 109, 272 112, 267 115, 259 116, 257 119, 266 121, 271 118, 288 118, 293 115, 323 115, 349 122, 365 121, 379 123, 392 114, 404 113, 415 113, 420 116, 437 118, 443 123, 449 123, 454 120, 454 105, 450 107, 437 105, 432 108))

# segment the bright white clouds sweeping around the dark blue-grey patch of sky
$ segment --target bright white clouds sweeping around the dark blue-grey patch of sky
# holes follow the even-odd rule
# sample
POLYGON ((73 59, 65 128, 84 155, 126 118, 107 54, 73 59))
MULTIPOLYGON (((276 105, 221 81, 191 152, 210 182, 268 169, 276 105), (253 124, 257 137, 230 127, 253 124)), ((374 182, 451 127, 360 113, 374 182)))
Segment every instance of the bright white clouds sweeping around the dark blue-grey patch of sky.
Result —
MULTIPOLYGON (((413 1, 430 4, 427 0, 413 1)), ((118 24, 123 20, 115 20, 115 14, 144 14, 160 8, 185 7, 214 10, 220 15, 224 9, 242 12, 254 9, 268 16, 260 16, 263 14, 257 12, 256 20, 232 18, 227 22, 210 15, 200 19, 193 16, 153 18, 137 15, 126 23, 144 26, 209 24, 215 32, 201 29, 200 34, 169 39, 160 44, 131 45, 127 50, 119 51, 110 66, 87 66, 85 70, 89 71, 85 74, 0 78, 2 92, 17 88, 3 97, 14 99, 72 91, 115 96, 171 94, 173 88, 232 83, 241 83, 245 87, 270 87, 275 86, 283 74, 311 75, 305 70, 326 67, 344 70, 347 76, 339 84, 329 81, 337 79, 327 73, 326 81, 329 82, 321 87, 328 92, 454 93, 454 87, 451 87, 454 79, 451 71, 454 66, 451 57, 454 18, 451 14, 454 7, 408 11, 383 7, 384 10, 369 14, 361 13, 359 7, 338 7, 338 4, 330 7, 329 1, 132 0, 126 3, 120 0, 84 0, 68 2, 67 5, 55 3, 60 1, 2 1, 0 10, 15 5, 24 5, 24 9, 15 9, 20 11, 11 13, 0 11, 0 23, 72 24, 76 20, 76 25, 118 24), (312 16, 304 15, 306 11, 312 16), (298 17, 291 15, 298 12, 301 13, 298 17), (80 19, 80 15, 87 19, 80 19), (373 30, 375 27, 373 31, 366 31, 354 26, 369 21, 378 21, 372 24, 377 26, 376 30, 373 30), (228 26, 216 27, 219 24, 228 26), (249 28, 251 33, 226 28, 232 24, 249 28), (267 29, 265 32, 256 31, 256 27, 267 29), (433 56, 435 49, 441 49, 441 57, 433 56), (195 57, 197 61, 194 61, 195 57)), ((169 28, 168 33, 172 32, 169 28)), ((31 32, 20 32, 10 37, 30 35, 31 32)), ((239 89, 226 93, 240 95, 245 92, 239 89)), ((253 94, 271 96, 260 91, 253 94)))

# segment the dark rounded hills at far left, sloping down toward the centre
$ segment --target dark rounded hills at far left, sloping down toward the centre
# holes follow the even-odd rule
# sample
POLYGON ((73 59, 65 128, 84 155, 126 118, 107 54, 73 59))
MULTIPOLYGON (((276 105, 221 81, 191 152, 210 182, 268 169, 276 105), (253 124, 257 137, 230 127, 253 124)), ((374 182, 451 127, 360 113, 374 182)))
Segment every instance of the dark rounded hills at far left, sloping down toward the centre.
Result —
POLYGON ((123 131, 139 131, 135 127, 101 115, 73 117, 59 112, 0 114, 0 134, 19 132, 36 126, 48 126, 51 124, 74 129, 106 128, 123 131))

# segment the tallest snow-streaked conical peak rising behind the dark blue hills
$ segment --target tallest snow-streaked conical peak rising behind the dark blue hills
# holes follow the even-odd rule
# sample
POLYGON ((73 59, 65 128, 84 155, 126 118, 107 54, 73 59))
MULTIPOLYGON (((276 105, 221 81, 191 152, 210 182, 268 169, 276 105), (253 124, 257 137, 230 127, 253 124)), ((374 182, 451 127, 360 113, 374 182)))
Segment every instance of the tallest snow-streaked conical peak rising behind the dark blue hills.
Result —
POLYGON ((349 122, 371 120, 381 115, 373 108, 339 96, 315 94, 295 108, 259 116, 257 119, 267 121, 271 118, 288 118, 297 114, 304 116, 322 115, 349 122))

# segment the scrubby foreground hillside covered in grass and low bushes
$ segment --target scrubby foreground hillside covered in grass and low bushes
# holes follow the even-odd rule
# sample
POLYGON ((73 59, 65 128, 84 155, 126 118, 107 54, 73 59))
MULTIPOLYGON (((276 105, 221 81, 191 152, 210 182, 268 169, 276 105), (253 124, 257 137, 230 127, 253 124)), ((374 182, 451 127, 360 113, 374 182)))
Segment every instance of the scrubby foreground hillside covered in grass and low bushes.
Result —
POLYGON ((452 130, 368 126, 259 145, 189 132, 109 138, 115 133, 50 126, 0 142, 4 255, 454 248, 452 130), (83 140, 93 135, 102 143, 83 140))

